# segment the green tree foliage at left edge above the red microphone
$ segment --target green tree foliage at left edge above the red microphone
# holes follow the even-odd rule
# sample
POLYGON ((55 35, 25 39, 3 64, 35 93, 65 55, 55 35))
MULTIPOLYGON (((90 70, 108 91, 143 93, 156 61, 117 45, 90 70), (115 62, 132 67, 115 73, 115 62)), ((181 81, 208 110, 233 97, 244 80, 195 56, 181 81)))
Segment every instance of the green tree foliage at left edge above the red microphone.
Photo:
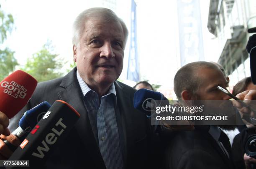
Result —
MULTIPOLYGON (((0 9, 0 44, 4 43, 7 38, 7 34, 11 33, 13 30, 13 26, 13 16, 11 14, 6 15, 3 10, 0 9)), ((8 74, 14 70, 15 66, 18 65, 13 54, 14 52, 9 48, 0 48, 0 81, 8 76, 8 74)))

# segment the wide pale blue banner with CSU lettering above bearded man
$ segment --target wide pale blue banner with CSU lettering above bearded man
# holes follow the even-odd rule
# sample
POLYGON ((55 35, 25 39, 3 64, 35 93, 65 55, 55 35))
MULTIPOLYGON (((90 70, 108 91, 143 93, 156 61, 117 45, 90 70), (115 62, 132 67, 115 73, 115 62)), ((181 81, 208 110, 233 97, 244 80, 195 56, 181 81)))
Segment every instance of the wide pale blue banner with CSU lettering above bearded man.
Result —
POLYGON ((204 61, 199 0, 177 0, 180 64, 204 61))

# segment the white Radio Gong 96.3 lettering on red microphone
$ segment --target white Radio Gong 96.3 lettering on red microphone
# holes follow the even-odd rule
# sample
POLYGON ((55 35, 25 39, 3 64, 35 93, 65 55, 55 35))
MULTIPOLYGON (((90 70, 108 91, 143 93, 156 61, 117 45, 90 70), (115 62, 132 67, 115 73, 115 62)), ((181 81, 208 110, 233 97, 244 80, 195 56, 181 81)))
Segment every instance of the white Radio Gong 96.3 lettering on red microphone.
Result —
POLYGON ((13 96, 13 98, 25 98, 27 95, 27 89, 15 81, 11 81, 10 83, 8 81, 3 81, 1 87, 5 88, 3 90, 4 93, 13 96))

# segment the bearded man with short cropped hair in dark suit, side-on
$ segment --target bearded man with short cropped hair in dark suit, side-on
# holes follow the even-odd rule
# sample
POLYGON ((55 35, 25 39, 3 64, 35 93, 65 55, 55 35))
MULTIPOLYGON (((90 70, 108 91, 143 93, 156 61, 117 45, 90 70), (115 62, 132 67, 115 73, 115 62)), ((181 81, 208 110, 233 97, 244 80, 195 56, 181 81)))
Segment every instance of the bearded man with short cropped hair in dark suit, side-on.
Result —
MULTIPOLYGON (((182 104, 189 100, 228 100, 230 97, 217 88, 226 88, 227 83, 213 63, 194 62, 176 73, 174 91, 182 104)), ((233 129, 233 126, 223 127, 233 129)), ((228 137, 218 126, 195 126, 194 131, 180 131, 169 143, 166 168, 232 169, 230 150, 228 137)))

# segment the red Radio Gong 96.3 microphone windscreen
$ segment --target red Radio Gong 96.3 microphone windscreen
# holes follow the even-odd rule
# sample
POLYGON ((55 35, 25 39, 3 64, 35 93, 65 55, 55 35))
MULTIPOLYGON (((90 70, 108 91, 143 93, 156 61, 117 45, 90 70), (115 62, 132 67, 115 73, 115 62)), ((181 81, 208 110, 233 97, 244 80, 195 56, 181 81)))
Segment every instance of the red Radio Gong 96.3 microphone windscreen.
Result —
POLYGON ((9 119, 31 98, 37 81, 24 71, 15 71, 0 82, 0 111, 9 119))

